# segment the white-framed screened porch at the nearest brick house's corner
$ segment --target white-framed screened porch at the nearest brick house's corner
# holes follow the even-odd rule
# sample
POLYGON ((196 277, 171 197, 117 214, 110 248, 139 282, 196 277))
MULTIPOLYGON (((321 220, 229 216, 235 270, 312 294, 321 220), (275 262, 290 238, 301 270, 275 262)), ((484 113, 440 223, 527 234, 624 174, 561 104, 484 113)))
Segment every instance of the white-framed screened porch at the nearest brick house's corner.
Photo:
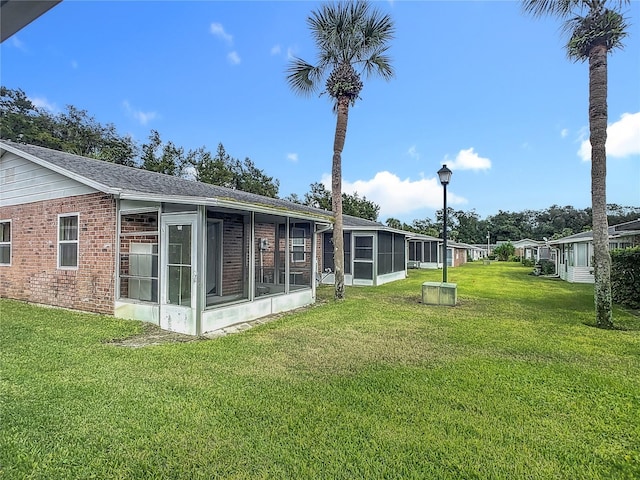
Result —
POLYGON ((199 335, 313 303, 318 220, 122 200, 115 314, 199 335))

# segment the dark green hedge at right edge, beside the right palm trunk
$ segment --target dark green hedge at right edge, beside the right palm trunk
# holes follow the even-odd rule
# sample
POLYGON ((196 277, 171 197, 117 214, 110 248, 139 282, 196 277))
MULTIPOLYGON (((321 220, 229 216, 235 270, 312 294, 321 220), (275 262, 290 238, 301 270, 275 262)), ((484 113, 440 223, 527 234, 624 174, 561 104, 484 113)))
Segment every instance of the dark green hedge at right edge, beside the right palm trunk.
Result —
POLYGON ((611 251, 611 295, 619 305, 640 309, 640 246, 611 251))

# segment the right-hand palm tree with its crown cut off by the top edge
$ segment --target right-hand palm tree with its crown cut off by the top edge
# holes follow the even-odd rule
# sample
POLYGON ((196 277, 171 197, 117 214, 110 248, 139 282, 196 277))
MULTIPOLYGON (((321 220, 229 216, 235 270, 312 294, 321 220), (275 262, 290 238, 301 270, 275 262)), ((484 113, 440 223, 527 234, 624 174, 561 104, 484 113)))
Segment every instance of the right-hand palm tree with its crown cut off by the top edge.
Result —
POLYGON ((593 214, 594 301, 596 324, 613 328, 611 256, 607 224, 607 54, 622 47, 626 22, 619 9, 629 0, 523 0, 536 17, 557 16, 569 34, 567 53, 589 61, 589 130, 591 141, 591 209, 593 214), (613 4, 608 8, 608 4, 613 4))

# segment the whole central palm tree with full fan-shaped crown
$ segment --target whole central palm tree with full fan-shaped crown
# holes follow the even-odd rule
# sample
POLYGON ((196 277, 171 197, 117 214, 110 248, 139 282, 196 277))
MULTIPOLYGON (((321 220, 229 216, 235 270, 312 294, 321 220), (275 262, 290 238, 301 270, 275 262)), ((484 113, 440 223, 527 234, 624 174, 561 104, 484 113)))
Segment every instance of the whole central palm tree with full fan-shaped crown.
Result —
POLYGON ((325 4, 307 19, 318 49, 311 65, 295 57, 287 69, 287 82, 294 92, 310 95, 324 85, 337 114, 331 168, 331 205, 334 215, 333 256, 335 298, 344 298, 344 242, 342 237, 342 149, 347 136, 349 107, 363 87, 361 75, 393 76, 386 55, 394 26, 389 15, 372 9, 366 1, 325 4), (326 79, 325 79, 326 78, 326 79), (324 82, 323 82, 324 80, 324 82))

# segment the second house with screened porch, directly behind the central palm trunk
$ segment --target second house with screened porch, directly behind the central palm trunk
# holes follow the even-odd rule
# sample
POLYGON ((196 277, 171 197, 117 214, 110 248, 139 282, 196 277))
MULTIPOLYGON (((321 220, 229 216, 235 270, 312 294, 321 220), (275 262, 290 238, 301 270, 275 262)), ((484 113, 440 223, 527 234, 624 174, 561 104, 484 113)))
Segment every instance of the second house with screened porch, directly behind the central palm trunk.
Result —
MULTIPOLYGON (((382 285, 407 277, 410 233, 379 222, 343 216, 345 285, 382 285)), ((333 232, 319 234, 320 281, 335 283, 333 232)))

